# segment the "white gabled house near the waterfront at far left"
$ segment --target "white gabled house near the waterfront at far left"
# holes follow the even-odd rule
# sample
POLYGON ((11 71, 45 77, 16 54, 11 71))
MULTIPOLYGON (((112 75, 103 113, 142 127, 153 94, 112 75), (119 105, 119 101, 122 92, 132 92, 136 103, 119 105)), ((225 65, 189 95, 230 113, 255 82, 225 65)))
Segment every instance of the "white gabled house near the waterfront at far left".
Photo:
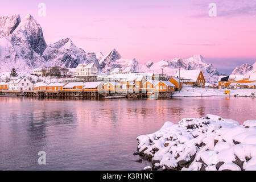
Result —
POLYGON ((8 82, 8 87, 9 90, 32 90, 33 84, 26 76, 23 76, 18 79, 11 79, 8 82))

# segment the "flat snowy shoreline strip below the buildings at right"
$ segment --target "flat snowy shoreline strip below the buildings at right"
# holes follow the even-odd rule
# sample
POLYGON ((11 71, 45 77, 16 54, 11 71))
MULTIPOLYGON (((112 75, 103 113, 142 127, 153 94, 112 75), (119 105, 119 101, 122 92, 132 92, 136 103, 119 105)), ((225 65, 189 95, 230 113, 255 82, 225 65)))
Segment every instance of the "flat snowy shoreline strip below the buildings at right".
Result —
POLYGON ((193 88, 185 85, 180 92, 175 92, 174 97, 207 97, 207 96, 229 96, 225 95, 225 90, 230 90, 230 96, 256 97, 256 89, 213 89, 213 88, 193 88))

